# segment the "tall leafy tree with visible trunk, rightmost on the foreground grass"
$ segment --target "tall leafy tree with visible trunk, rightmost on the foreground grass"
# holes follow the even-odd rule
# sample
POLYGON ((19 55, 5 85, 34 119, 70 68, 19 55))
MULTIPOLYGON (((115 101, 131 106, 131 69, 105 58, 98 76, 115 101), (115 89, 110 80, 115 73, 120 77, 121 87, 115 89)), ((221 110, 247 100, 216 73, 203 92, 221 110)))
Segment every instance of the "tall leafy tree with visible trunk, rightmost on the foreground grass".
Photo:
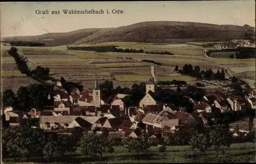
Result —
POLYGON ((216 152, 216 157, 218 157, 219 151, 230 147, 232 139, 228 131, 228 125, 225 124, 214 124, 209 128, 209 142, 216 152))

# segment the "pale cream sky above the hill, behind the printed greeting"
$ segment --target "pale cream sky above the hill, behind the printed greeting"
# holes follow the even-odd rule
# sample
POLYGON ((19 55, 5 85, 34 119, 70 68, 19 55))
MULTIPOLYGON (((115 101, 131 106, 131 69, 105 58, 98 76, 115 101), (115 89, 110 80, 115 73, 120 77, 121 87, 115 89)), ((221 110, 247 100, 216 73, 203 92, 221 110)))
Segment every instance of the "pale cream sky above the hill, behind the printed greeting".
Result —
POLYGON ((255 1, 184 2, 4 2, 1 3, 1 37, 41 35, 86 28, 110 28, 142 21, 191 21, 255 27, 255 1), (37 15, 36 10, 49 10, 37 15), (63 14, 63 9, 104 10, 104 14, 63 14), (124 14, 106 14, 113 9, 124 14), (51 11, 60 11, 53 15, 51 11))

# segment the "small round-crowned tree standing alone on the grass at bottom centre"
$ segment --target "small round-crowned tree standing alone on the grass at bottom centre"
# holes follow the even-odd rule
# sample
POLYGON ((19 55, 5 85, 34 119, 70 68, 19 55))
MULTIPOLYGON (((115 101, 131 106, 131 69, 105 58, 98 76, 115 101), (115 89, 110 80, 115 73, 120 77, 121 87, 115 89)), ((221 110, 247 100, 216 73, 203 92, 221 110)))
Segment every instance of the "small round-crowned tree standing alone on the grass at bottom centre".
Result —
POLYGON ((126 144, 127 145, 125 145, 125 148, 129 151, 136 152, 137 156, 139 156, 139 152, 146 151, 150 148, 147 140, 145 140, 145 138, 142 136, 139 136, 138 138, 130 138, 126 144))

